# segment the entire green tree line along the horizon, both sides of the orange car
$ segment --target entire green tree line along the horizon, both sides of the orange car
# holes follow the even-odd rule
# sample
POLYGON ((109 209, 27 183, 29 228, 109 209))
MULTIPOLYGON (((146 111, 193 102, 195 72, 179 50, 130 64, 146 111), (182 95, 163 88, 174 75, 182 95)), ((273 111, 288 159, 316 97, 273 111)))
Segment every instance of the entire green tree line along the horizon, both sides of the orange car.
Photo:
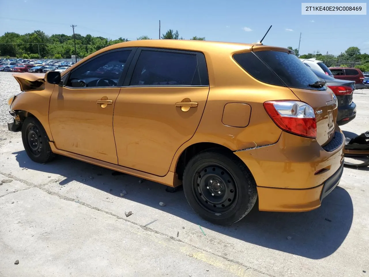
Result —
MULTIPOLYGON (((93 52, 108 45, 129 41, 120 37, 116 40, 104 37, 94 37, 90 34, 83 36, 75 34, 77 56, 84 58, 93 52)), ((162 36, 163 40, 183 40, 178 30, 169 29, 162 36)), ((147 35, 138 37, 137 40, 151 40, 147 35)), ((205 37, 194 36, 191 40, 205 40, 205 37)), ((349 47, 338 56, 331 54, 321 54, 319 51, 300 55, 298 49, 293 49, 299 58, 317 58, 329 66, 348 66, 360 68, 361 71, 369 71, 369 54, 361 54, 358 47, 349 47)), ((17 33, 5 33, 0 36, 0 57, 17 57, 24 59, 38 58, 71 58, 75 55, 73 35, 54 34, 46 35, 43 31, 37 30, 24 35, 17 33)))

